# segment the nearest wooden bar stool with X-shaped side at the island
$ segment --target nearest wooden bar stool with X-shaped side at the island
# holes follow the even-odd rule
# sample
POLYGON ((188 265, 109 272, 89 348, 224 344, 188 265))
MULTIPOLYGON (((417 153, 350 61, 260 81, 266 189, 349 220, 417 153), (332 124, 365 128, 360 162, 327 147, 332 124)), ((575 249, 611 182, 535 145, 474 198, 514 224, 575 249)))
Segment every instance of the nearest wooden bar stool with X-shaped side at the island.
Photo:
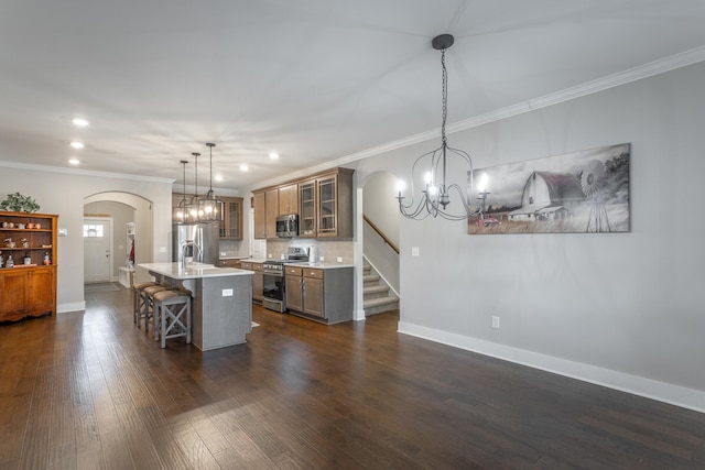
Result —
POLYGON ((191 293, 183 291, 161 291, 152 295, 154 303, 154 340, 161 336, 162 348, 166 340, 186 337, 191 343, 191 293))

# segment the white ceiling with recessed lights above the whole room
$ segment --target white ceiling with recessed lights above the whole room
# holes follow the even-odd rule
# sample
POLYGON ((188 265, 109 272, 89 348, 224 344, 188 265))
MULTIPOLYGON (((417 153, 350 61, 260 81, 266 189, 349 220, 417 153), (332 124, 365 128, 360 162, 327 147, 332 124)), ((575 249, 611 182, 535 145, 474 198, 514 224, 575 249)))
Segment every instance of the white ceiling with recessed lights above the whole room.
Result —
POLYGON ((203 186, 210 141, 216 187, 265 182, 437 129, 442 33, 453 123, 705 50, 705 1, 3 0, 0 161, 192 184, 200 152, 203 186))

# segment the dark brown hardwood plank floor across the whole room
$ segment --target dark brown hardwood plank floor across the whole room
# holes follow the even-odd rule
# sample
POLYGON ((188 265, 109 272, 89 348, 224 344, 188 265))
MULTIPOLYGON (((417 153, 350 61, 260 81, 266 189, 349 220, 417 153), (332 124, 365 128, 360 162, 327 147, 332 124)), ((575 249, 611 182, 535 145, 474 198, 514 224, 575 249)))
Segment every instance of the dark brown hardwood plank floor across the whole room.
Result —
MULTIPOLYGON (((6 295, 6 293, 1 293, 6 295)), ((705 415, 395 332, 254 307, 162 350, 130 291, 0 327, 0 469, 705 469, 705 415)))

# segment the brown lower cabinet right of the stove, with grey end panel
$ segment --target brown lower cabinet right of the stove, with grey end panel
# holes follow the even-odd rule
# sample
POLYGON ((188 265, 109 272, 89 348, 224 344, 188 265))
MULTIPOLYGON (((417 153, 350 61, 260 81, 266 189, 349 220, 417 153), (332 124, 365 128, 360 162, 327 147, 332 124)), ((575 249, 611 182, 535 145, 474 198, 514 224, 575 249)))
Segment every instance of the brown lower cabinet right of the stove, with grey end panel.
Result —
POLYGON ((354 269, 286 266, 286 307, 317 321, 352 319, 354 269))

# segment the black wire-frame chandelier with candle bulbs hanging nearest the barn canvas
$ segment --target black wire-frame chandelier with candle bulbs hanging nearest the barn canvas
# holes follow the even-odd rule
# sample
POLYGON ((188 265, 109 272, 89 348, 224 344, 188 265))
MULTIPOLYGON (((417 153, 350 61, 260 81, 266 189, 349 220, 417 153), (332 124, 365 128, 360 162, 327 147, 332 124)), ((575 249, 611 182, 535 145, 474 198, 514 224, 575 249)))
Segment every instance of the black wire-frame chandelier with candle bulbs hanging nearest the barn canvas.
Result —
MULTIPOLYGON (((408 219, 422 220, 426 217, 442 217, 447 220, 467 220, 470 216, 482 215, 485 210, 485 200, 489 193, 485 188, 479 188, 477 195, 477 204, 471 205, 473 196, 473 161, 466 152, 448 146, 445 134, 445 123, 448 111, 448 77, 445 67, 445 51, 453 45, 454 37, 451 34, 441 34, 433 39, 431 44, 436 51, 441 51, 441 68, 442 68, 442 121, 441 121, 441 146, 432 152, 421 155, 414 162, 411 168, 411 200, 404 203, 402 195, 403 183, 400 182, 399 211, 408 219), (453 183, 447 175, 447 160, 455 157, 462 161, 463 166, 467 165, 467 190, 463 189, 463 185, 453 183), (420 200, 414 201, 414 181, 421 179, 423 174, 423 189, 421 190, 420 200), (451 196, 454 196, 453 205, 451 196), (455 198, 457 197, 457 200, 455 198), (453 206, 453 207, 448 207, 453 206), (455 207, 458 206, 458 207, 455 207)), ((451 173, 458 173, 455 167, 451 173)))

